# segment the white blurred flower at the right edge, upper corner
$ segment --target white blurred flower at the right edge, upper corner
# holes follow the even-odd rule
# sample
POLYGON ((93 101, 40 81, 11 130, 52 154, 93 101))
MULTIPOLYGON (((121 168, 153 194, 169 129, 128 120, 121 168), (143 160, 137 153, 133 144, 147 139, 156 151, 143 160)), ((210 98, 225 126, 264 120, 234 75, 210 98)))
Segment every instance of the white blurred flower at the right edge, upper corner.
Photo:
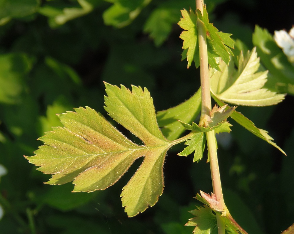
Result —
POLYGON ((285 30, 275 31, 274 40, 282 48, 290 63, 294 64, 294 26, 289 33, 285 30))

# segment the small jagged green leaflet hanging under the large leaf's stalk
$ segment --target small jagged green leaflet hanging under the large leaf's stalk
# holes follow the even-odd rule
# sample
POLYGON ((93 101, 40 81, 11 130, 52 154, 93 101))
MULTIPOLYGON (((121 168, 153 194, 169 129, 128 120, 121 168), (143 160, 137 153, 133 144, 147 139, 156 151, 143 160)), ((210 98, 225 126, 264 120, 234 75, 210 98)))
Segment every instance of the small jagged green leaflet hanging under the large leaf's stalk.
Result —
POLYGON ((202 159, 205 147, 205 134, 203 132, 196 132, 190 140, 185 142, 188 145, 182 152, 178 153, 179 156, 187 156, 194 152, 193 162, 199 162, 202 159))

